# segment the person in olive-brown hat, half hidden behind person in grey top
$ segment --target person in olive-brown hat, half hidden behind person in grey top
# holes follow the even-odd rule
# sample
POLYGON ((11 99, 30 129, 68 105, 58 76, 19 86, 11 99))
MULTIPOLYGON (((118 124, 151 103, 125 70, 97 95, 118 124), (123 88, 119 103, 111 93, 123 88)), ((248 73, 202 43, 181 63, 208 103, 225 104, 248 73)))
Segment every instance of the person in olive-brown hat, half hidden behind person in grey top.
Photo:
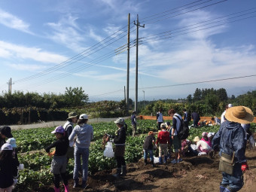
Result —
MULTIPOLYGON (((69 117, 67 118, 67 121, 63 126, 65 130, 66 139, 69 139, 69 136, 71 135, 74 129, 74 123, 77 123, 77 121, 78 121, 78 114, 76 114, 75 112, 70 112, 69 117)), ((69 149, 67 152, 67 162, 69 162, 70 158, 74 158, 74 142, 69 142, 69 149)))

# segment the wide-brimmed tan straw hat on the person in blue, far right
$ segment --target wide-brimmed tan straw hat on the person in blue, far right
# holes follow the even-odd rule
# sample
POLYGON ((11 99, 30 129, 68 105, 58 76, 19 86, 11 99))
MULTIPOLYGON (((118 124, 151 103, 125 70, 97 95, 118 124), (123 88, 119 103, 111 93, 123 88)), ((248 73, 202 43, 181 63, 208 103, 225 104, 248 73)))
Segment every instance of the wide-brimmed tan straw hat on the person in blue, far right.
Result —
POLYGON ((250 108, 245 106, 236 106, 229 108, 225 114, 227 120, 236 123, 251 123, 254 119, 250 108))

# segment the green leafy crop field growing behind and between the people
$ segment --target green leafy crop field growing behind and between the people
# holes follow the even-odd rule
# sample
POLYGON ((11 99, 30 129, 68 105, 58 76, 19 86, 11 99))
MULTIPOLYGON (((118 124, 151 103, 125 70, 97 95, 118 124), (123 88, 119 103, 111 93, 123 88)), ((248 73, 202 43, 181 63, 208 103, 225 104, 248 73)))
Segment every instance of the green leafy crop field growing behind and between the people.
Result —
MULTIPOLYGON (((132 126, 130 120, 126 120, 128 125, 126 137, 126 163, 137 162, 143 156, 142 145, 147 133, 150 130, 157 132, 157 123, 155 120, 138 120, 138 136, 132 137, 132 126)), ((89 171, 94 174, 103 169, 113 169, 115 167, 114 158, 103 157, 102 136, 105 133, 114 134, 117 126, 114 123, 92 123, 94 130, 94 139, 90 146, 89 171)), ((252 123, 252 131, 255 130, 255 123, 252 123)), ((190 129, 188 139, 200 136, 203 131, 217 132, 219 126, 204 126, 201 128, 190 129)), ((50 173, 51 158, 47 156, 44 148, 50 145, 55 136, 50 132, 51 128, 36 128, 30 130, 13 131, 14 138, 17 139, 20 163, 24 164, 23 170, 19 172, 19 181, 15 191, 26 188, 35 190, 38 187, 52 184, 52 174, 50 173)), ((72 178, 74 160, 69 160, 67 172, 72 178)))

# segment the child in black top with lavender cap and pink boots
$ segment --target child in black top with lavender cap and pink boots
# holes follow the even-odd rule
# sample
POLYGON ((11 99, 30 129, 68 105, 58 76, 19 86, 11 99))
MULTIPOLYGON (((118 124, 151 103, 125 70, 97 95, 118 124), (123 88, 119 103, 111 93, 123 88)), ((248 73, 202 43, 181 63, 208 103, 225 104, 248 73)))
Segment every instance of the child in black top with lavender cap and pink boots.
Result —
POLYGON ((66 154, 69 148, 69 140, 65 138, 65 130, 62 126, 57 126, 56 129, 51 133, 53 133, 56 136, 57 140, 56 142, 53 142, 53 144, 45 148, 45 151, 51 157, 52 154, 50 154, 50 149, 56 148, 50 166, 50 172, 52 172, 54 175, 54 190, 55 192, 59 192, 59 178, 61 175, 65 187, 65 192, 69 192, 68 178, 66 177, 66 154))

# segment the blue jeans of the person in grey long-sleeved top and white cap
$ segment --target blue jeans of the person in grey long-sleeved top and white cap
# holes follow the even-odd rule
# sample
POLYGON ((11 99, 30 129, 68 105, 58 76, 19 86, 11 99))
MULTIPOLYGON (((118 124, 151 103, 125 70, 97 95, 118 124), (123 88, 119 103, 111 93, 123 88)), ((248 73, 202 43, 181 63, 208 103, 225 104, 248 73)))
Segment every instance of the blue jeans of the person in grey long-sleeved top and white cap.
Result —
POLYGON ((75 166, 73 178, 78 178, 78 171, 81 170, 81 157, 82 157, 82 170, 83 170, 83 181, 87 181, 88 175, 88 160, 89 160, 89 148, 78 148, 75 147, 75 166))

